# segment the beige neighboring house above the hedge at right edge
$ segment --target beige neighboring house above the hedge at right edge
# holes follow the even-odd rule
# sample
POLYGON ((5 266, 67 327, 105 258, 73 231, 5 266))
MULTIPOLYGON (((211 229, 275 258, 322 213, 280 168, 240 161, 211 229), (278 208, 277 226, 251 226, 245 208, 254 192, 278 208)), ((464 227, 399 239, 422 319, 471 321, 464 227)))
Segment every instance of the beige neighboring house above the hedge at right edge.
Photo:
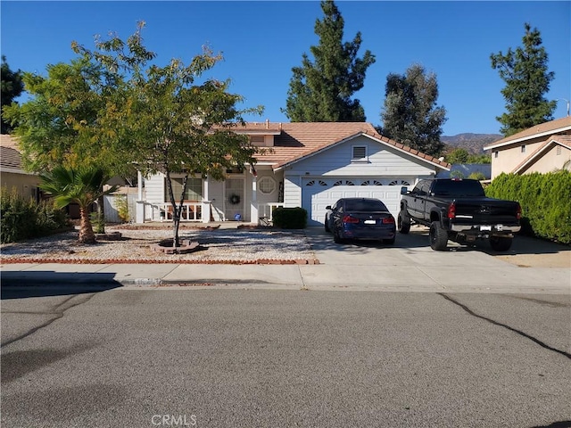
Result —
POLYGON ((526 174, 569 169, 571 117, 525 129, 484 147, 492 151, 492 179, 502 172, 526 174))

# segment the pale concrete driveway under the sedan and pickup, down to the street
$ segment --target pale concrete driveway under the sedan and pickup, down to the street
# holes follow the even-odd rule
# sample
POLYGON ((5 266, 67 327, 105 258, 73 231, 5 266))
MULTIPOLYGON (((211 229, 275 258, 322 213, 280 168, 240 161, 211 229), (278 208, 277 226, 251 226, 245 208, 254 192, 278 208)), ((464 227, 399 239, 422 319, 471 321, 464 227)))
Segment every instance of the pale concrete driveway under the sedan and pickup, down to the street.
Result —
POLYGON ((321 264, 300 267, 303 283, 313 289, 571 292, 569 247, 517 236, 506 253, 485 242, 449 243, 448 251, 433 251, 427 234, 426 227, 412 227, 394 245, 340 245, 322 228, 310 227, 307 235, 321 264))

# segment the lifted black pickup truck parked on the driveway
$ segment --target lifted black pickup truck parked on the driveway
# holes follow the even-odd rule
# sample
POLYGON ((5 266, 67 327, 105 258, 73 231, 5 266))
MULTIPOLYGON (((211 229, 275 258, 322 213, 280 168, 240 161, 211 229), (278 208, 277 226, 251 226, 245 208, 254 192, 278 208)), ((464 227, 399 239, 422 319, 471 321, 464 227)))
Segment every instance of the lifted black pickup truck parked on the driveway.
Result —
POLYGON ((408 234, 411 224, 430 227, 430 246, 443 251, 448 240, 473 244, 489 239, 495 251, 508 251, 520 227, 518 202, 487 198, 477 180, 421 180, 410 192, 401 188, 397 229, 408 234))

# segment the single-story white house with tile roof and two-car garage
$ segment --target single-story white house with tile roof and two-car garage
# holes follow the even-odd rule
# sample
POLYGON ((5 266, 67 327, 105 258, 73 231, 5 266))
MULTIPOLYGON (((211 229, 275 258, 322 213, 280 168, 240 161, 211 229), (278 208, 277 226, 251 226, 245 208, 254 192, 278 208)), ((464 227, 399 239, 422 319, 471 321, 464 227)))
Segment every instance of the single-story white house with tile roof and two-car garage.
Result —
MULTIPOLYGON (((374 197, 396 217, 401 186, 450 165, 381 136, 364 122, 247 123, 236 133, 263 148, 255 166, 228 170, 225 181, 190 177, 183 221, 271 219, 276 207, 302 207, 308 225, 323 225, 327 205, 342 197, 374 197)), ((175 194, 182 179, 174 177, 175 194)), ((165 177, 139 177, 137 223, 170 220, 165 177), (141 186, 141 183, 145 186, 141 186)))

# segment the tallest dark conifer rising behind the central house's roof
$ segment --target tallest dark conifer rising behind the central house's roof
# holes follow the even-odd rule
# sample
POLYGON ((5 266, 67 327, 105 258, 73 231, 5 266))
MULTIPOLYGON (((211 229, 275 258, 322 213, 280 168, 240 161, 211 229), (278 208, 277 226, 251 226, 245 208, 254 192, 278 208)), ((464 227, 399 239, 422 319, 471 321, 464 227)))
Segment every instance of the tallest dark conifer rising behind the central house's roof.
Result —
POLYGON ((282 111, 293 122, 365 121, 365 111, 352 95, 363 87, 375 56, 366 51, 357 57, 360 32, 352 42, 343 43, 343 17, 332 0, 322 1, 321 9, 325 16, 315 23, 319 45, 310 46, 315 61, 303 53, 302 66, 292 69, 282 111))

